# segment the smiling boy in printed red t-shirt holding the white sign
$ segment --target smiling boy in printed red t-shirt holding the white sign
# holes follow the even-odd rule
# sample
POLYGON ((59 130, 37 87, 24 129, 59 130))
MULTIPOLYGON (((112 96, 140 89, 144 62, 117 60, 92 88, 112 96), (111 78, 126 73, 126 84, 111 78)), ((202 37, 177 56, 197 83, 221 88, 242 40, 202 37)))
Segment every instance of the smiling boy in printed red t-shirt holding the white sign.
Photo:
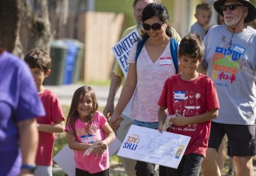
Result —
POLYGON ((171 115, 168 131, 191 137, 178 169, 167 168, 167 175, 199 175, 206 156, 210 120, 218 116, 214 82, 197 72, 203 54, 204 44, 197 34, 182 38, 178 49, 182 72, 166 79, 158 101, 158 130, 163 130, 168 109, 171 115))

